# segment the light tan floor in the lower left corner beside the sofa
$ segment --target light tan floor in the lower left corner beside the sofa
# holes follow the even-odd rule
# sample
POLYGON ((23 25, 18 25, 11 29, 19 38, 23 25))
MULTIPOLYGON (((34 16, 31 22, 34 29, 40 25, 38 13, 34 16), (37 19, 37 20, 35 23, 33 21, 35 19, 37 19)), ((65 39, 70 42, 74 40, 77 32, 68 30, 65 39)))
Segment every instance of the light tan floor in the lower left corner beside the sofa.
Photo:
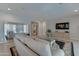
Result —
POLYGON ((0 56, 11 56, 10 47, 13 46, 13 40, 6 43, 0 43, 0 56))

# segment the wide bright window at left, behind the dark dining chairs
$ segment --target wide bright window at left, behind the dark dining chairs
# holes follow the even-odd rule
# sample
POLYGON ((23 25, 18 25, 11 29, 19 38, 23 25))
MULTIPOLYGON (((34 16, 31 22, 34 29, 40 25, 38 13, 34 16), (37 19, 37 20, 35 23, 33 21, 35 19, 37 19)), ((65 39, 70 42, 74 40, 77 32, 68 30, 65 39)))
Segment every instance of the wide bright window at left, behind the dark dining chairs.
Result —
POLYGON ((7 35, 9 31, 13 31, 14 33, 28 33, 28 24, 4 24, 4 35, 7 35))

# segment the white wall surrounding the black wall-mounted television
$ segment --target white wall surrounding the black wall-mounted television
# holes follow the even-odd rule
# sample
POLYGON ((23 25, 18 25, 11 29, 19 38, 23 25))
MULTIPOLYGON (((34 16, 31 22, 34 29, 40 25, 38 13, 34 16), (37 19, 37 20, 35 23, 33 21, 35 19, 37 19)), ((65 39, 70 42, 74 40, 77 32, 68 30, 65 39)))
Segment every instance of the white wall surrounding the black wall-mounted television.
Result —
MULTIPOLYGON (((50 28, 53 29, 53 31, 57 31, 55 29, 56 23, 61 22, 69 22, 70 23, 70 29, 68 30, 70 32, 70 39, 71 40, 79 40, 79 15, 73 15, 70 17, 65 17, 57 20, 52 20, 50 22, 50 28), (53 23, 51 23, 53 22, 53 23), (52 25, 52 27, 51 27, 52 25)), ((65 31, 65 30, 58 30, 58 31, 65 31)))

